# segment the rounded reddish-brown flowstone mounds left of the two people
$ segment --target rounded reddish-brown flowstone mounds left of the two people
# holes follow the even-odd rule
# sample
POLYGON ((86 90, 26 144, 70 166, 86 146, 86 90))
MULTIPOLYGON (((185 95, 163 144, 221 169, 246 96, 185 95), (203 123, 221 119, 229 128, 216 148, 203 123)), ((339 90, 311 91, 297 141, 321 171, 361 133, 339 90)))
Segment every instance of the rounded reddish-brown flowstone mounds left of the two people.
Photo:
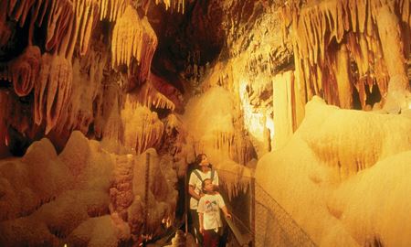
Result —
POLYGON ((159 237, 158 226, 174 221, 172 166, 153 149, 108 153, 79 132, 60 155, 47 139, 35 142, 22 158, 0 164, 0 243, 118 246, 141 242, 142 234, 159 237))

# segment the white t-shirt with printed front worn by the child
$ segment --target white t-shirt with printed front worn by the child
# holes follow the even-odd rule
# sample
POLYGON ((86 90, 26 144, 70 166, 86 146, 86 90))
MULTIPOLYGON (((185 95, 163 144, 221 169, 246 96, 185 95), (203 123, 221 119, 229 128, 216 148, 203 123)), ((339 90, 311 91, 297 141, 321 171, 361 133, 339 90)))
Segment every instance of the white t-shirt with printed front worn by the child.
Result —
POLYGON ((220 218, 220 209, 226 206, 220 194, 205 195, 198 203, 197 212, 203 213, 203 227, 213 230, 223 226, 220 218))

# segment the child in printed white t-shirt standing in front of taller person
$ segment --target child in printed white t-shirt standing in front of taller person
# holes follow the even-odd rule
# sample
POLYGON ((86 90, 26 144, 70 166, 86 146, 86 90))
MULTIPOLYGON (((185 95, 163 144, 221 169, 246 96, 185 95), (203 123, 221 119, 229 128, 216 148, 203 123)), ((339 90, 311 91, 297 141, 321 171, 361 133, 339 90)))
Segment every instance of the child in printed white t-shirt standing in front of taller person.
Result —
POLYGON ((202 184, 205 196, 198 202, 198 216, 200 220, 200 233, 203 234, 204 247, 218 246, 218 229, 223 226, 220 218, 220 209, 227 219, 231 219, 226 204, 219 193, 214 190, 213 181, 205 178, 202 184))

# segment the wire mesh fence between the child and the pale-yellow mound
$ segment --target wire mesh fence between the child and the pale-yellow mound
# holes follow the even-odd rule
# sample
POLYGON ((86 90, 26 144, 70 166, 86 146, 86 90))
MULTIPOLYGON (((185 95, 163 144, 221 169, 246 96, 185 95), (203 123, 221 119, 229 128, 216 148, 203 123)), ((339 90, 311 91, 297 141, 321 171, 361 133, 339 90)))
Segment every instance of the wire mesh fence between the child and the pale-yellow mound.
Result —
POLYGON ((220 192, 228 208, 233 210, 233 223, 237 231, 250 240, 250 246, 316 246, 290 214, 256 182, 252 173, 217 172, 222 183, 220 192), (233 188, 236 193, 228 195, 233 188))

